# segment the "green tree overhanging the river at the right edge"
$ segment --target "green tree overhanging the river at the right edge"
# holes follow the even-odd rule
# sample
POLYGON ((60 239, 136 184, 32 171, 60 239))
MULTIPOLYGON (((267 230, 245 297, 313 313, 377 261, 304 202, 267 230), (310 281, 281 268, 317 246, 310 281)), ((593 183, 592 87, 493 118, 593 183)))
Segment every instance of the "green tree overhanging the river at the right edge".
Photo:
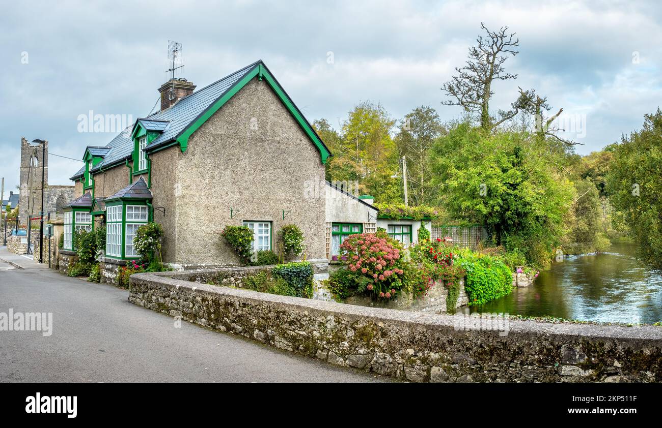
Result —
POLYGON ((639 255, 662 268, 662 111, 613 147, 606 192, 618 221, 639 244, 639 255))

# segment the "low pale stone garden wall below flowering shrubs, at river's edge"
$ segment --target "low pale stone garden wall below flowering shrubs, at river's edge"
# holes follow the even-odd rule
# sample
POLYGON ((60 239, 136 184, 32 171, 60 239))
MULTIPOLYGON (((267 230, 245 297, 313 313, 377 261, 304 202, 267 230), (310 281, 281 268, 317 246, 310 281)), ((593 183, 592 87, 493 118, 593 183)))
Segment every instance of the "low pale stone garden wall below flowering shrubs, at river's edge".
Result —
MULTIPOLYGON (((446 298, 448 297, 448 288, 444 286, 443 281, 435 281, 434 285, 425 296, 414 297, 412 293, 402 293, 395 299, 371 299, 369 296, 352 296, 346 299, 345 303, 359 304, 361 306, 371 306, 375 308, 389 308, 399 310, 411 310, 414 312, 446 312, 446 298)), ((469 304, 469 296, 464 289, 464 279, 460 280, 459 296, 455 303, 455 308, 469 304)))

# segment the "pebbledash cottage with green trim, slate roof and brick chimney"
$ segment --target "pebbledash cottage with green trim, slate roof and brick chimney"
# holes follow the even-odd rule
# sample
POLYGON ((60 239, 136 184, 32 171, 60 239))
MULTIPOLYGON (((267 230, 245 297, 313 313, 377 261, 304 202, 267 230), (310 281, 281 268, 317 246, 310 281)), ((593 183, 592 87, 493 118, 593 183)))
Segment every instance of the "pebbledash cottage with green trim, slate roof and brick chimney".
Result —
POLYGON ((164 262, 183 267, 232 265, 239 258, 220 238, 226 225, 254 230, 254 249, 277 249, 294 223, 308 260, 326 260, 324 197, 303 197, 324 176, 331 155, 263 61, 204 87, 170 79, 160 110, 140 118, 103 147, 89 146, 71 180, 64 257, 76 229, 106 227, 102 267, 137 258, 136 229, 164 229, 164 262))

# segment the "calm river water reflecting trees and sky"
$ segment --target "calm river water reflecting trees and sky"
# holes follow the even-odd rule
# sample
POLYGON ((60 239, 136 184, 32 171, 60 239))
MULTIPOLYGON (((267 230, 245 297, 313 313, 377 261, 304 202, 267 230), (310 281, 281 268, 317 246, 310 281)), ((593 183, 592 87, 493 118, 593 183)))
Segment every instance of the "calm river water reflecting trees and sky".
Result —
POLYGON ((628 324, 662 322, 662 275, 639 262, 635 250, 636 244, 619 243, 601 254, 570 256, 541 271, 533 285, 471 306, 471 312, 628 324))

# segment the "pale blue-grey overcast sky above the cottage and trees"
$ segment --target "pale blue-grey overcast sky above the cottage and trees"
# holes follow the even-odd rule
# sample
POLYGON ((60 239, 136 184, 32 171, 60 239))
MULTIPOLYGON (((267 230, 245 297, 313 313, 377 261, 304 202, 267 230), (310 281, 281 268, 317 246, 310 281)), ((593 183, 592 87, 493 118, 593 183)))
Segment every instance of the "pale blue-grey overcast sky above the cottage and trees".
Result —
MULTIPOLYGON (((394 118, 443 106, 440 90, 469 46, 510 26, 520 53, 506 62, 492 106, 517 87, 563 107, 568 135, 600 149, 641 127, 662 104, 662 7, 576 1, 216 1, 3 2, 0 14, 0 176, 19 182, 21 137, 79 159, 113 133, 79 132, 79 115, 146 116, 167 80, 167 40, 183 44, 179 77, 199 88, 263 59, 308 120, 338 127, 354 104, 378 101, 394 118), (332 59, 332 61, 330 60, 332 59)), ((81 162, 50 157, 50 184, 81 162)), ((5 196, 6 198, 7 196, 5 196)))

